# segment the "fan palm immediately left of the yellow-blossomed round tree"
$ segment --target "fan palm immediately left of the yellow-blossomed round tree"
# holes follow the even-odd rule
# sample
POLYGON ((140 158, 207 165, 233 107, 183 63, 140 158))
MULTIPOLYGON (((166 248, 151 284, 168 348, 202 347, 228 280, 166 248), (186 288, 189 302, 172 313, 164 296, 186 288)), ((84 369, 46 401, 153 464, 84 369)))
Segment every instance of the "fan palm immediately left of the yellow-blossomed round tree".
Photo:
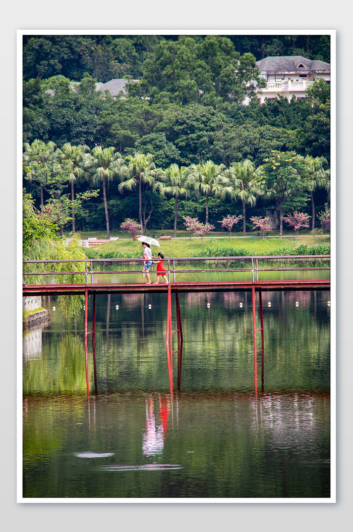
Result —
POLYGON ((245 205, 253 207, 256 204, 257 196, 262 194, 262 190, 255 184, 255 167, 249 159, 243 162, 231 163, 225 172, 230 180, 230 185, 225 188, 225 193, 229 194, 232 200, 241 200, 243 205, 243 235, 246 233, 245 225, 245 205))

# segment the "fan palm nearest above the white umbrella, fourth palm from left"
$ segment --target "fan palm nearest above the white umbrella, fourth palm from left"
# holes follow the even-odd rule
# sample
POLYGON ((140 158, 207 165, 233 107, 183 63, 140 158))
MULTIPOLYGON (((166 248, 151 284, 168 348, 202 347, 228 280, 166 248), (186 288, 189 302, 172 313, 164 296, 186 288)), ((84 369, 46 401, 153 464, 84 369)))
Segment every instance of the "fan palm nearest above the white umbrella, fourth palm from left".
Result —
POLYGON ((144 233, 153 212, 153 204, 151 194, 150 212, 146 219, 145 205, 142 212, 142 196, 144 196, 144 192, 148 188, 153 192, 153 190, 160 186, 159 184, 155 184, 155 179, 161 172, 156 169, 156 166, 153 163, 153 155, 151 153, 148 153, 147 155, 144 153, 127 155, 125 160, 127 161, 127 164, 123 163, 119 170, 120 178, 124 179, 118 187, 119 192, 123 192, 123 190, 133 190, 136 187, 139 189, 139 218, 141 232, 144 233))

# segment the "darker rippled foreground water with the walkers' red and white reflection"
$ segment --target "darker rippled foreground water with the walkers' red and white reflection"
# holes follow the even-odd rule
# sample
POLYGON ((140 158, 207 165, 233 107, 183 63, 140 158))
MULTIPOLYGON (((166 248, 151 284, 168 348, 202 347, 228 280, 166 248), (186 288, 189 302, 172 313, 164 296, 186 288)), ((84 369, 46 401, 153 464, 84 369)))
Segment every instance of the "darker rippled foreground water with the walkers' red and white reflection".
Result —
POLYGON ((25 497, 330 495, 328 393, 186 390, 174 401, 148 392, 92 402, 93 425, 87 401, 27 398, 25 497))

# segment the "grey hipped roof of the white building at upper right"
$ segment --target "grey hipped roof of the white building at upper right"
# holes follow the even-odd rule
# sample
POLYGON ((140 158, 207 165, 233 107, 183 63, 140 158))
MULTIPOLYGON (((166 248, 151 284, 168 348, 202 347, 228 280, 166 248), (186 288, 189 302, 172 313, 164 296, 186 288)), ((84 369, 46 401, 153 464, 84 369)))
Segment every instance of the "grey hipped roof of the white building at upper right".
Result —
POLYGON ((307 59, 302 55, 279 55, 256 61, 261 72, 330 72, 330 63, 307 59))

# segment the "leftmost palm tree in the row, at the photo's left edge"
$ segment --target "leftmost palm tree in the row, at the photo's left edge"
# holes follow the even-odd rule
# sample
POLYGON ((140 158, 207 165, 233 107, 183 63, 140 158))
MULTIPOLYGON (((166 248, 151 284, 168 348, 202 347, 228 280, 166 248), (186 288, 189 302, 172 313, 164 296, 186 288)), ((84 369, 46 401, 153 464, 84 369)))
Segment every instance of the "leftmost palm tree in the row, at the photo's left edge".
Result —
POLYGON ((56 144, 51 140, 46 144, 36 138, 31 144, 25 142, 23 147, 23 162, 30 169, 25 177, 29 181, 38 181, 40 204, 44 206, 43 190, 46 190, 46 185, 52 174, 51 163, 54 161, 56 144))

